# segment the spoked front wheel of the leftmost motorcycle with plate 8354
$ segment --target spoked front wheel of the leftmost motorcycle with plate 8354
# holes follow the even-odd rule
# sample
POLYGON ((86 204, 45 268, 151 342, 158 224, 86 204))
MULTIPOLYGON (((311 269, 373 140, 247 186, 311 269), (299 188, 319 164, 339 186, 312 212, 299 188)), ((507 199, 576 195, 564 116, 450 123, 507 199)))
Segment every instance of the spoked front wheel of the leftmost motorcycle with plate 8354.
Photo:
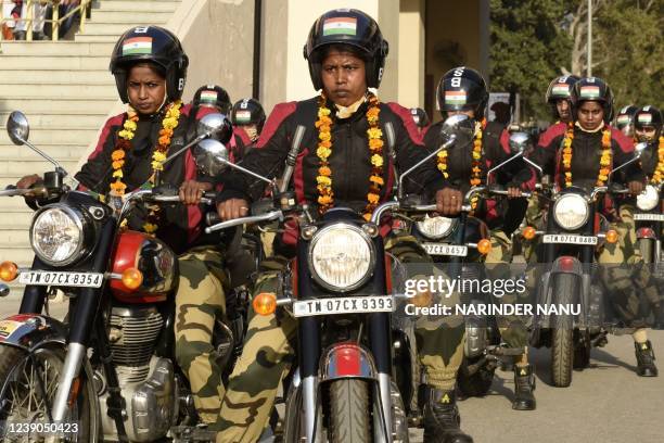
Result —
MULTIPOLYGON (((18 347, 0 345, 0 422, 29 422, 36 415, 41 414, 41 421, 46 423, 50 412, 46 410, 44 400, 50 404, 55 396, 64 359, 65 349, 59 344, 44 343, 33 349, 30 353, 18 347), (53 374, 49 375, 51 369, 53 374), (24 396, 31 397, 33 402, 22 402, 24 396), (16 402, 22 405, 18 410, 13 408, 16 402), (26 404, 30 405, 30 410, 25 410, 26 404)), ((59 441, 98 443, 102 438, 97 393, 82 369, 79 380, 78 396, 69 407, 69 415, 64 419, 67 427, 76 423, 78 433, 67 433, 59 441)), ((4 441, 4 436, 9 435, 0 434, 0 441, 4 441)))

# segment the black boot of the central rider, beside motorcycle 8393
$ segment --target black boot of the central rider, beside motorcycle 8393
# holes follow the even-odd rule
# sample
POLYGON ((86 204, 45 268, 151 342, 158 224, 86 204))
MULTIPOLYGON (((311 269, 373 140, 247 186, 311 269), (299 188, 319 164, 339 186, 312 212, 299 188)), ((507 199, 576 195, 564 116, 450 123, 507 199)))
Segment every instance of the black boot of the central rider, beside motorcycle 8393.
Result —
POLYGON ((473 443, 459 428, 461 417, 455 391, 426 387, 424 394, 424 441, 426 443, 473 443))

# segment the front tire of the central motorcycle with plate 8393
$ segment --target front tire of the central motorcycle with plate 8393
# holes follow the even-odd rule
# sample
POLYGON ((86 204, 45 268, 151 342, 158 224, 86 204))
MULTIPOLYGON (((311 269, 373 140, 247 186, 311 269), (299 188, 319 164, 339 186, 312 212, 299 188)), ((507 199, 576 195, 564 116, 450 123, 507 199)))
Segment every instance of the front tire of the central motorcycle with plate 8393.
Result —
POLYGON ((369 385, 365 380, 341 379, 330 383, 330 443, 373 441, 369 385))

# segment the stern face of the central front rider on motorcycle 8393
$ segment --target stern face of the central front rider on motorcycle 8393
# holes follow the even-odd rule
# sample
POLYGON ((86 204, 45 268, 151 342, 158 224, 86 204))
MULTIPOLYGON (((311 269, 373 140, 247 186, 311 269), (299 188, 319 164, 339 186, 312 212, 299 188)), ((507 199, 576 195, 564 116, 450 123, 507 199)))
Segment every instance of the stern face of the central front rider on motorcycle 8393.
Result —
POLYGON ((367 92, 365 61, 350 52, 328 52, 321 76, 323 91, 335 104, 349 106, 367 92))

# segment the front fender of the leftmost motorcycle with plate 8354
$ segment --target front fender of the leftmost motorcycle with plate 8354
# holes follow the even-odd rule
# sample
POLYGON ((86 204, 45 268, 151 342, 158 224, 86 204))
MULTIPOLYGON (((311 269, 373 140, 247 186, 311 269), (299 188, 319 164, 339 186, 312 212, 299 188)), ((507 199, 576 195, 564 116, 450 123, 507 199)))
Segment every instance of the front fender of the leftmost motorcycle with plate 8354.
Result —
POLYGON ((67 328, 59 320, 39 314, 16 314, 0 320, 0 344, 30 352, 44 342, 65 344, 67 328))

